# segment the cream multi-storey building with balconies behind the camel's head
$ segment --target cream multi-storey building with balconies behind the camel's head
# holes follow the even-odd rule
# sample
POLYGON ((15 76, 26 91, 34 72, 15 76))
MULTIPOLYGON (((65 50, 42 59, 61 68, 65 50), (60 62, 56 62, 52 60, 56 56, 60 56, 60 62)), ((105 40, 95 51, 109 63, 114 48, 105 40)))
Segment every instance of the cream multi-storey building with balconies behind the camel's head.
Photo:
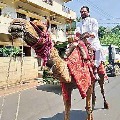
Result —
MULTIPOLYGON (((66 23, 76 19, 76 13, 64 6, 64 3, 69 1, 71 0, 0 0, 0 48, 12 45, 23 47, 26 62, 30 61, 30 59, 32 61, 33 59, 35 60, 34 50, 22 40, 14 40, 12 42, 8 27, 14 18, 23 18, 29 21, 34 19, 46 21, 46 18, 49 18, 49 30, 52 34, 52 39, 54 41, 65 41, 66 23)), ((4 55, 0 56, 0 59, 7 59, 4 55)), ((36 61, 32 65, 35 66, 35 64, 36 61)), ((34 78, 35 76, 28 77, 34 78)))

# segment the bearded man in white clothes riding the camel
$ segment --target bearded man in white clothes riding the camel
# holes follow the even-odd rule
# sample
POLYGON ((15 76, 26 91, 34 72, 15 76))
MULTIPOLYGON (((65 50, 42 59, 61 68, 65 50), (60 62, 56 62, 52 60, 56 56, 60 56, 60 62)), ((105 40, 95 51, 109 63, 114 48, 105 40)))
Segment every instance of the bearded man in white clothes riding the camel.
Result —
POLYGON ((81 22, 76 27, 76 33, 87 34, 87 41, 91 44, 92 49, 95 51, 95 77, 99 79, 97 68, 104 60, 102 54, 102 47, 98 38, 98 22, 95 18, 90 17, 90 11, 87 6, 80 9, 81 22))

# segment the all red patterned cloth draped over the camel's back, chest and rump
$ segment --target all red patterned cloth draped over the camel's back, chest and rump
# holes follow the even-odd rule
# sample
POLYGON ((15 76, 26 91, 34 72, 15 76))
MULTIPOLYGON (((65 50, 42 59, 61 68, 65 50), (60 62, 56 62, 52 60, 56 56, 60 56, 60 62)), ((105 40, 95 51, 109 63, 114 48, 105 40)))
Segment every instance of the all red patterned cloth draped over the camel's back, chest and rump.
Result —
MULTIPOLYGON (((65 100, 69 101, 71 100, 71 91, 74 89, 74 87, 76 88, 76 86, 81 94, 81 97, 84 99, 87 96, 86 92, 89 86, 95 80, 93 71, 94 54, 90 54, 84 44, 80 43, 80 45, 82 48, 77 46, 66 60, 70 74, 74 80, 71 83, 61 83, 63 97, 65 100), (81 49, 84 49, 86 56, 91 55, 92 58, 87 57, 87 59, 84 59, 83 54, 81 53, 81 49)), ((98 68, 98 74, 103 74, 106 76, 103 63, 101 63, 98 68)))

